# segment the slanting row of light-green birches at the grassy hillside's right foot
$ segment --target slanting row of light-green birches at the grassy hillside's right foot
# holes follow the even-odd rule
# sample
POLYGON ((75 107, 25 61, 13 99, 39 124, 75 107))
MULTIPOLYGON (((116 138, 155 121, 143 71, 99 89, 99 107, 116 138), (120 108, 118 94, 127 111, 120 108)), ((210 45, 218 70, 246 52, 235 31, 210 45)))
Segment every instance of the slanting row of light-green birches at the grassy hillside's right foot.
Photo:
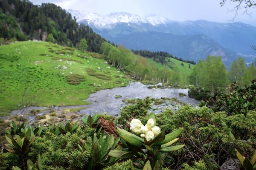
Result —
POLYGON ((172 83, 180 85, 181 76, 177 68, 157 68, 148 65, 145 57, 136 56, 133 52, 118 45, 117 47, 103 42, 101 53, 106 57, 108 63, 122 71, 125 71, 137 80, 149 80, 154 82, 172 83))

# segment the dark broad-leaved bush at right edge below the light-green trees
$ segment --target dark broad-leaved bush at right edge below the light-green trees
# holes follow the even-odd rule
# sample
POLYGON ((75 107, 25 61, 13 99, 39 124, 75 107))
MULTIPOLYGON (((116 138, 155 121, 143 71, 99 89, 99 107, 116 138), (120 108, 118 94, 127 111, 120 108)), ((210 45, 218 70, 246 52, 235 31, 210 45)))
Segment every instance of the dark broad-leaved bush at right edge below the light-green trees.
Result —
POLYGON ((244 114, 256 110, 256 81, 253 80, 248 86, 239 86, 233 83, 229 93, 221 93, 206 100, 205 104, 213 111, 226 111, 228 115, 244 114))

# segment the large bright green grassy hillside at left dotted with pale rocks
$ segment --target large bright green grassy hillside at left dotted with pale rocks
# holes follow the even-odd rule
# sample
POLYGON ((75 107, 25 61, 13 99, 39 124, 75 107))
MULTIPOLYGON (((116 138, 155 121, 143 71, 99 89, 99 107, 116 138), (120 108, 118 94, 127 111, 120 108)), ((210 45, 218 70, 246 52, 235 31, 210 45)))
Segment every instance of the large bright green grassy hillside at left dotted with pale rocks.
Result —
POLYGON ((116 68, 106 68, 110 65, 103 59, 91 57, 90 54, 82 51, 73 51, 71 55, 67 52, 71 51, 64 46, 49 42, 26 41, 0 46, 0 55, 4 54, 4 57, 0 56, 0 115, 6 115, 30 100, 36 106, 88 104, 84 99, 87 99, 90 93, 104 88, 124 86, 129 82, 125 75, 123 75, 124 78, 119 76, 122 73, 116 68), (62 50, 66 54, 51 53, 48 48, 54 51, 62 50), (78 54, 88 58, 78 57, 78 54), (76 61, 60 61, 54 57, 76 61), (11 62, 12 59, 18 60, 11 62), (64 65, 67 69, 61 68, 64 65), (98 70, 97 67, 102 70, 98 70), (86 68, 93 68, 98 73, 107 74, 112 80, 89 76, 85 71, 86 68), (86 80, 79 85, 70 85, 65 78, 69 74, 84 75, 86 80), (96 86, 93 86, 93 83, 96 86), (26 95, 23 96, 26 88, 31 90, 27 90, 26 95))

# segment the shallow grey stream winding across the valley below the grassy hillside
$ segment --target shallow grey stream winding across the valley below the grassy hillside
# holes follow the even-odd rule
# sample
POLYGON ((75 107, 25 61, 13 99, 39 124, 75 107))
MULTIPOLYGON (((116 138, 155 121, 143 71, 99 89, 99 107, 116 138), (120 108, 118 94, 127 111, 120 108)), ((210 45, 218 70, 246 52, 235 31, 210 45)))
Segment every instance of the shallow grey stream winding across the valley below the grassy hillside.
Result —
MULTIPOLYGON (((177 98, 178 101, 189 104, 192 106, 197 106, 199 101, 192 99, 188 96, 188 89, 181 88, 148 88, 149 85, 143 85, 140 82, 131 82, 130 85, 126 87, 112 88, 97 91, 96 93, 90 94, 90 97, 87 99, 91 105, 73 105, 73 106, 61 106, 55 108, 47 107, 28 107, 25 109, 19 109, 11 112, 11 116, 23 114, 26 119, 33 121, 35 116, 29 115, 31 110, 63 110, 65 108, 81 108, 87 107, 86 109, 81 109, 79 114, 90 114, 95 113, 106 113, 110 115, 117 115, 120 113, 120 108, 127 105, 125 102, 122 102, 123 99, 135 99, 140 98, 144 99, 147 96, 153 98, 177 98), (186 96, 179 96, 179 93, 186 94, 186 96), (116 98, 116 96, 121 96, 116 98)), ((49 113, 48 111, 43 111, 39 114, 49 113)))

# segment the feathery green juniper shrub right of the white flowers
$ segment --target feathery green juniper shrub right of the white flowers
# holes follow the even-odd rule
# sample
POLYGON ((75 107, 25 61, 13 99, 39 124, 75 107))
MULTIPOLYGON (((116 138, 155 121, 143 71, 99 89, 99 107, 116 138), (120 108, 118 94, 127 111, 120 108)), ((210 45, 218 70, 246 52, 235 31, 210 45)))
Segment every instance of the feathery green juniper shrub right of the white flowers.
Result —
MULTIPOLYGON (((253 114, 250 115, 250 122, 256 121, 253 114)), ((250 153, 251 145, 241 139, 255 140, 252 136, 255 133, 255 123, 244 124, 248 120, 241 116, 227 117, 224 112, 214 113, 207 107, 196 109, 184 106, 175 114, 162 113, 158 119, 161 129, 166 132, 183 128, 180 141, 186 147, 182 152, 176 153, 177 155, 185 155, 185 158, 192 156, 196 161, 204 160, 210 170, 216 170, 216 165, 220 166, 227 156, 234 156, 234 148, 250 153), (214 161, 216 158, 220 161, 214 161)))

